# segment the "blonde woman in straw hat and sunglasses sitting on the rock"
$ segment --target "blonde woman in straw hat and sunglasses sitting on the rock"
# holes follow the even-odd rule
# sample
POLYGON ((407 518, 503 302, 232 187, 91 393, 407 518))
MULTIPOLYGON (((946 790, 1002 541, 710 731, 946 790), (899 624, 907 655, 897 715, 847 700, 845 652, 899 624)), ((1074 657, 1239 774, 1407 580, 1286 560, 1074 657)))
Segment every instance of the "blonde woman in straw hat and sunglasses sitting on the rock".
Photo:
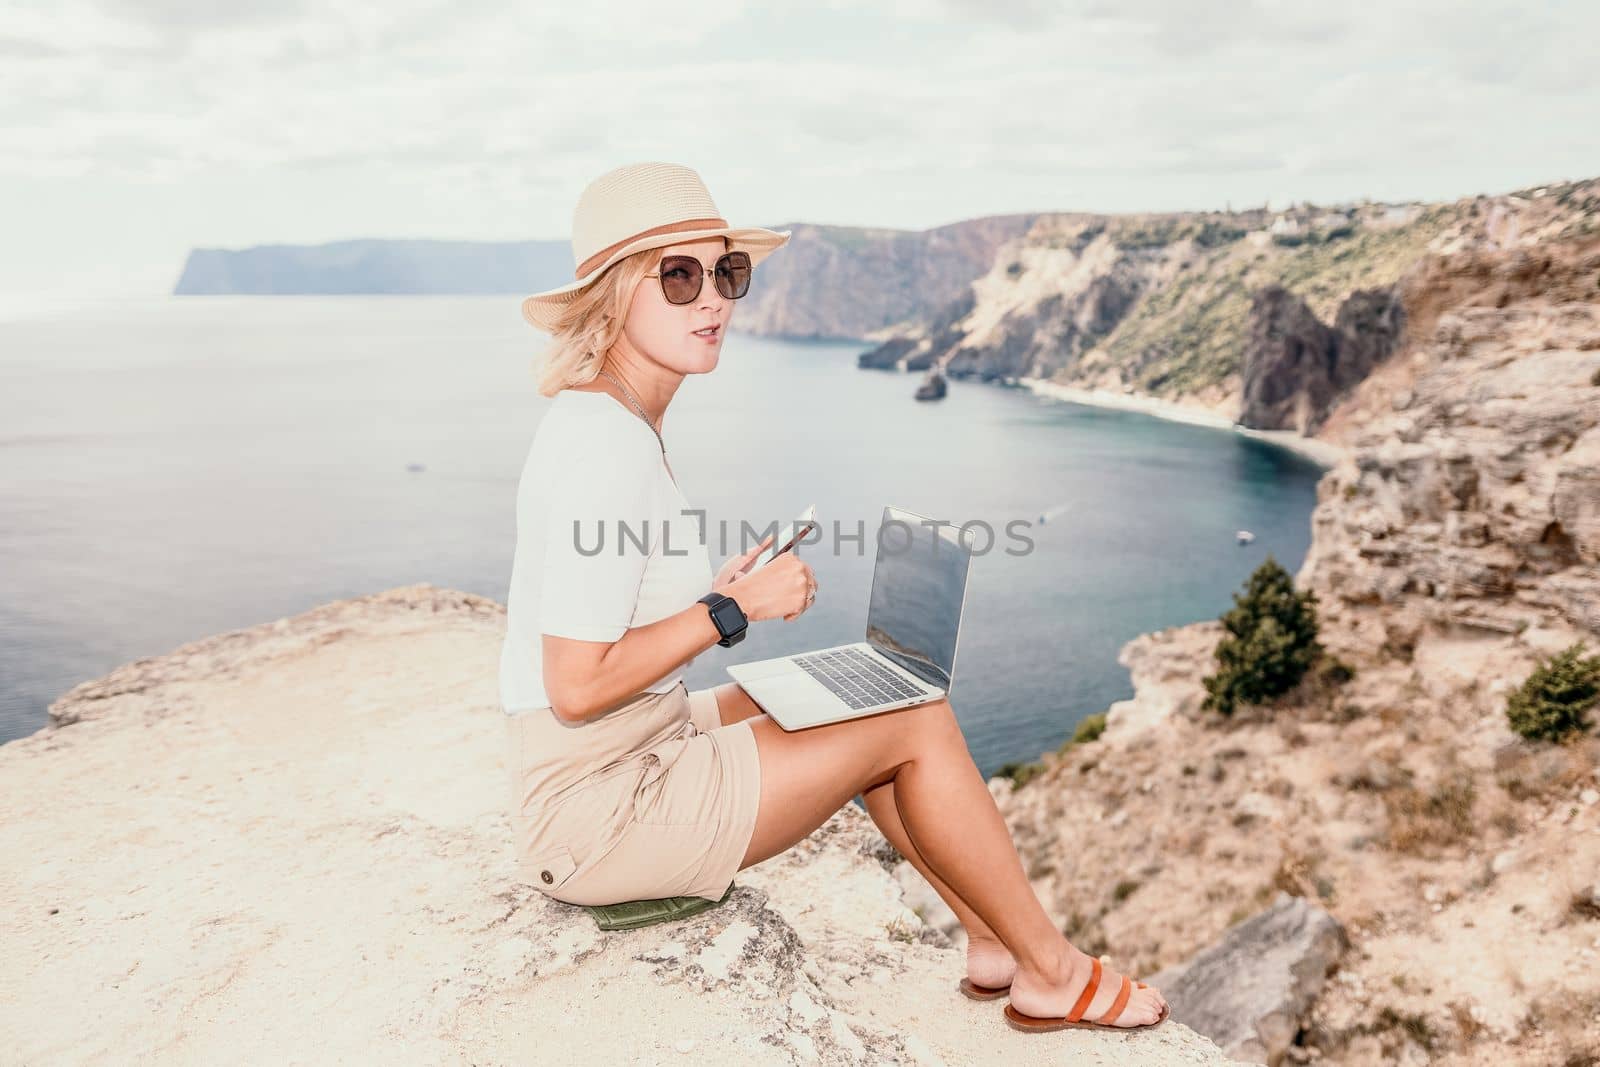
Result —
POLYGON ((579 197, 576 282, 523 301, 555 346, 501 657, 522 870, 571 904, 718 899, 861 793, 966 928, 962 992, 1010 992, 1018 1029, 1160 1022, 1158 990, 1040 907, 949 701, 786 733, 738 683, 683 685, 698 654, 742 637, 739 614, 792 621, 816 598, 792 552, 747 569, 771 537, 712 574, 664 440, 678 386, 717 370, 755 264, 787 240, 730 227, 686 166, 621 166, 579 197), (738 611, 714 617, 720 597, 738 611))

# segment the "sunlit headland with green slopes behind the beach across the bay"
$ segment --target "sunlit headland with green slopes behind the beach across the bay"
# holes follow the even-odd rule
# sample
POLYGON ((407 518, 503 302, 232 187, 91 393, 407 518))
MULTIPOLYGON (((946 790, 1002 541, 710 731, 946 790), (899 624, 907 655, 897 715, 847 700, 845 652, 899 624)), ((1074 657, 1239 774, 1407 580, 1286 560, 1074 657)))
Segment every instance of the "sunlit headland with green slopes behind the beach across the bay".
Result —
POLYGON ((1410 344, 1408 306, 1430 293, 1411 275, 1427 256, 1594 234, 1595 179, 1434 205, 1050 213, 859 363, 1154 397, 1315 434, 1410 344))

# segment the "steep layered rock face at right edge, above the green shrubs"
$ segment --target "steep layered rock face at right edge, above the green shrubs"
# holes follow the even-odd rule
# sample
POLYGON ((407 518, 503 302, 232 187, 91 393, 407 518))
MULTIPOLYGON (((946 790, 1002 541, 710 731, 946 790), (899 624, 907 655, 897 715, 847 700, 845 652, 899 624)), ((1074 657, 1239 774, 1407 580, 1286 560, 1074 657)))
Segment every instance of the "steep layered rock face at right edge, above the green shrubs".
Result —
MULTIPOLYGON (((1600 242, 1542 261, 1536 299, 1440 309, 1339 427, 1354 454, 1318 486, 1302 579, 1374 646, 1405 653, 1422 625, 1600 630, 1600 304, 1562 299, 1600 274, 1600 242)), ((1498 272, 1526 264, 1430 267, 1498 272)))

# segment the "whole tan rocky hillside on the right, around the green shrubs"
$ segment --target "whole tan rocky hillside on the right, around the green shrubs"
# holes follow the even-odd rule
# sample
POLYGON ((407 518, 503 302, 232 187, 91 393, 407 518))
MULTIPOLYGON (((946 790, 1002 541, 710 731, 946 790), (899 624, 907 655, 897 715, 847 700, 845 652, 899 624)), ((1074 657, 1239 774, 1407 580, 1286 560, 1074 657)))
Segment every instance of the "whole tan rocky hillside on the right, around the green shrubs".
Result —
MULTIPOLYGON (((1227 1048, 1600 1056, 1600 737, 1536 744, 1506 720, 1541 656, 1600 646, 1600 240, 1560 232, 1419 259, 1406 342, 1322 426, 1347 456, 1298 584, 1355 677, 1224 720, 1200 710, 1221 625, 1144 635, 1106 734, 1002 800, 1056 918, 1134 971, 1205 957, 1282 893, 1339 923, 1349 950, 1307 949, 1275 987, 1294 1025, 1186 1005, 1227 1048)), ((1261 960, 1219 958, 1242 981, 1261 960)))

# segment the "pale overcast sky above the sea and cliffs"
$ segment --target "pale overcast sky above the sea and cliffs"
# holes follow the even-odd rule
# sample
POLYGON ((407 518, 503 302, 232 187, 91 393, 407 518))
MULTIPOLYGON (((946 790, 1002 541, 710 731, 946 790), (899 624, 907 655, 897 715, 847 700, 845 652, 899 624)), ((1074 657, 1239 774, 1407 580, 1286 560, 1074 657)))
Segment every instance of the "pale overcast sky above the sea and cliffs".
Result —
POLYGON ((1600 5, 11 0, 0 298, 190 248, 566 240, 693 166, 736 226, 1453 200, 1600 174, 1600 5))

